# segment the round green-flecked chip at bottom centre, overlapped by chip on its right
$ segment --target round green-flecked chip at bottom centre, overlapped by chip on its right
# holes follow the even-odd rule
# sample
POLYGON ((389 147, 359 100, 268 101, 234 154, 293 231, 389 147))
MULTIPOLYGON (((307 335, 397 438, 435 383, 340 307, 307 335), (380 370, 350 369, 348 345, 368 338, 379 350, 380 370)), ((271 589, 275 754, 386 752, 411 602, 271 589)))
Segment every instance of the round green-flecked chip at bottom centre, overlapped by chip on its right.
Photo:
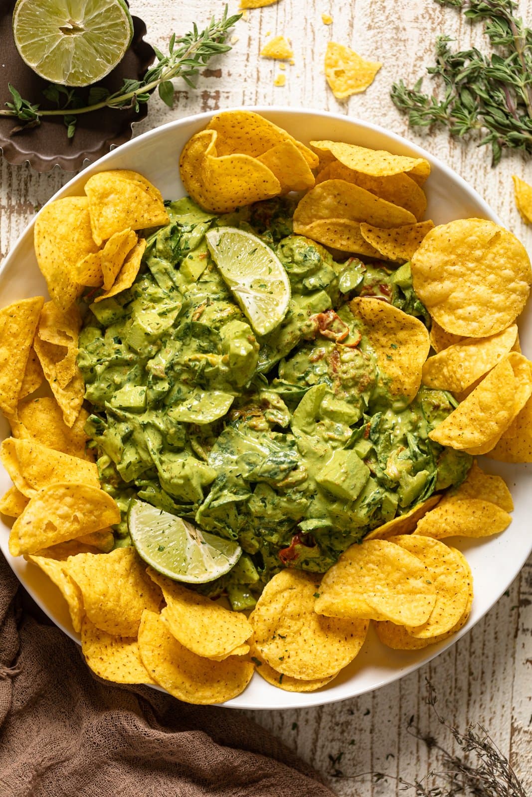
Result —
POLYGON ((305 681, 333 676, 352 662, 368 630, 365 620, 321 617, 314 611, 320 578, 281 571, 250 614, 261 657, 280 673, 305 681))

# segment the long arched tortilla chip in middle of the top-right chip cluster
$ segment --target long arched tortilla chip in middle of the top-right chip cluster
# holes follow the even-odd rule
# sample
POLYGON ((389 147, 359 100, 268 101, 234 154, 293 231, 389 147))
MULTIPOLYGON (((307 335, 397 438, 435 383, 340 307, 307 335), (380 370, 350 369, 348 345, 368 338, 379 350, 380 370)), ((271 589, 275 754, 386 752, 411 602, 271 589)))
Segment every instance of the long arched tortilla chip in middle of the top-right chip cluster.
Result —
POLYGON ((385 229, 416 222, 408 210, 345 180, 325 180, 305 194, 294 211, 294 233, 321 218, 368 222, 385 229))

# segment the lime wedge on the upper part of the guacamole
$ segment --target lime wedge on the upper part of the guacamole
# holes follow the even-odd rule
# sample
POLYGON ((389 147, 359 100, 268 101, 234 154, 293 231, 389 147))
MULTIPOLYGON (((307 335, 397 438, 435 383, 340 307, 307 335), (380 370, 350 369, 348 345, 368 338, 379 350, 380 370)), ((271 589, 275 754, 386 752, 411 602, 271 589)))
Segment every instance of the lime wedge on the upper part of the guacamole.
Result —
POLYGON ((276 254, 256 235, 237 227, 209 230, 209 251, 254 332, 267 335, 281 323, 290 282, 276 254))

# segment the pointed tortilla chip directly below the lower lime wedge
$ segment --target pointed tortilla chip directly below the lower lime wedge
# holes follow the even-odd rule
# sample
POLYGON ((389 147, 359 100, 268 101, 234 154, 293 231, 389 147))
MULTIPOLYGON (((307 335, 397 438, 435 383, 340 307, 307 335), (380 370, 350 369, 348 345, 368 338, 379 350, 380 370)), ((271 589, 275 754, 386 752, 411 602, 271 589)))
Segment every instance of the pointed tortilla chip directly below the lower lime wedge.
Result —
POLYGON ((164 618, 171 633, 197 656, 227 658, 253 634, 244 614, 165 578, 152 567, 148 567, 148 575, 163 591, 167 604, 164 618))

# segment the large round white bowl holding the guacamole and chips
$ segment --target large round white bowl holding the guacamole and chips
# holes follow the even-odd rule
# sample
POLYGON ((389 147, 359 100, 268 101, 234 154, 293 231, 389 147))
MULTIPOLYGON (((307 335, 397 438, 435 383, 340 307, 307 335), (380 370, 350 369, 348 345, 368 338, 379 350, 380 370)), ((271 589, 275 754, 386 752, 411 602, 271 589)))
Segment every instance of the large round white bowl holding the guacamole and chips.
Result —
MULTIPOLYGON (((332 139, 357 143, 374 149, 387 149, 397 155, 415 155, 427 158, 432 164, 432 175, 425 185, 428 194, 427 218, 435 224, 449 222, 454 218, 476 216, 491 218, 500 222, 497 215, 486 202, 463 181, 454 171, 440 163, 420 147, 408 143, 398 135, 386 132, 376 125, 356 122, 347 116, 331 113, 286 108, 253 108, 275 124, 286 128, 301 141, 310 139, 332 139)), ((179 154, 184 143, 193 133, 199 131, 211 118, 211 113, 191 116, 156 130, 144 133, 139 138, 123 144, 120 148, 105 155, 93 166, 74 177, 53 199, 73 194, 83 194, 86 180, 104 169, 134 169, 140 171, 163 193, 164 198, 183 196, 183 185, 179 179, 179 154)), ((37 269, 33 253, 33 222, 26 228, 0 269, 0 307, 26 296, 36 296, 45 292, 45 282, 37 269)), ((46 295, 44 293, 44 295, 46 295)), ((532 355, 532 324, 530 309, 523 314, 520 336, 522 349, 532 355)), ((0 432, 2 438, 9 434, 9 427, 2 418, 0 432)), ((499 536, 485 540, 452 540, 463 551, 473 571, 475 600, 467 625, 447 642, 429 646, 423 650, 403 652, 390 650, 381 645, 371 631, 361 653, 355 661, 342 670, 341 674, 324 689, 313 693, 284 692, 266 683, 255 673, 245 692, 228 706, 240 709, 288 709, 302 706, 321 705, 344 700, 384 684, 396 681, 420 665, 428 662, 479 622, 499 599, 518 574, 532 548, 530 536, 530 516, 532 515, 532 491, 530 484, 530 465, 501 465, 485 459, 483 467, 491 473, 500 473, 506 478, 515 502, 514 519, 510 527, 499 536)), ((0 490, 5 492, 10 486, 10 478, 5 470, 0 471, 0 490)), ((2 523, 0 528, 0 548, 13 568, 18 579, 30 592, 33 599, 46 614, 57 623, 65 634, 78 640, 70 624, 65 602, 57 587, 33 564, 22 557, 14 559, 7 549, 9 528, 2 523)), ((480 662, 479 662, 480 666, 480 662)))

